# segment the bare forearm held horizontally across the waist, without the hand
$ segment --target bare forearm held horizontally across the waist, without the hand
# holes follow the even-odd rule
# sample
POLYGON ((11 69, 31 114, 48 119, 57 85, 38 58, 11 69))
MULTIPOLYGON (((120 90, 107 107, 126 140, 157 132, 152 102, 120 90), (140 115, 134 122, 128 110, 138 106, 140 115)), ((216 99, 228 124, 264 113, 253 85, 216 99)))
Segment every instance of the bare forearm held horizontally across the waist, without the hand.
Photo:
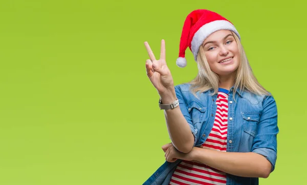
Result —
POLYGON ((272 168, 264 156, 254 152, 221 152, 198 147, 191 152, 193 160, 236 176, 267 178, 272 168))

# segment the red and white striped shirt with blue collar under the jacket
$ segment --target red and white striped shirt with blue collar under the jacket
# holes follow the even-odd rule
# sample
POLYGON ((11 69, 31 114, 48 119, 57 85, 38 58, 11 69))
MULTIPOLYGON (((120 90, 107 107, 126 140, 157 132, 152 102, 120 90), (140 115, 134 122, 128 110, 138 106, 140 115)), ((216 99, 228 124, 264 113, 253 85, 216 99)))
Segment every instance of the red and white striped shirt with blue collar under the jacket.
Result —
MULTIPOLYGON (((217 109, 213 128, 203 144, 204 148, 226 152, 228 121, 228 90, 219 88, 216 99, 217 109)), ((226 184, 226 173, 202 163, 182 161, 172 174, 171 185, 174 184, 226 184)))

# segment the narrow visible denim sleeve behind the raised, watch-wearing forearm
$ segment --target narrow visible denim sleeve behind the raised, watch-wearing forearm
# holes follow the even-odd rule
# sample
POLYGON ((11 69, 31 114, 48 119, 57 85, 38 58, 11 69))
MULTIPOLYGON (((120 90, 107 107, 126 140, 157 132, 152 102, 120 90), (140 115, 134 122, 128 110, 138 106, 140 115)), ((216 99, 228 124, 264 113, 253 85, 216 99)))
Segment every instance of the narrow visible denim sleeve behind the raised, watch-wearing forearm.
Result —
POLYGON ((179 100, 179 107, 180 107, 181 113, 183 114, 183 116, 187 120, 187 122, 188 122, 188 124, 189 124, 189 126, 191 128, 191 132, 192 132, 192 134, 194 136, 194 144, 193 144, 193 146, 195 146, 196 141, 197 141, 198 130, 192 124, 191 116, 190 116, 190 114, 188 112, 188 108, 187 108, 186 102, 184 100, 183 94, 182 94, 181 89, 180 89, 179 86, 175 86, 175 92, 176 92, 176 96, 177 96, 177 98, 179 100))

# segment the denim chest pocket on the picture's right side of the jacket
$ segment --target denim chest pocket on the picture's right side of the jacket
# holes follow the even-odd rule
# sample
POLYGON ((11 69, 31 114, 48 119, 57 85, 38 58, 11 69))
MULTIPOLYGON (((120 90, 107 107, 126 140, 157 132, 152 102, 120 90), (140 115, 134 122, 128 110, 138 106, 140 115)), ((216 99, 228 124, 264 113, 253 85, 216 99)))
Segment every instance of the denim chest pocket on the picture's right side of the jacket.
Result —
POLYGON ((256 136, 257 127, 260 120, 259 113, 242 113, 243 117, 243 129, 246 133, 256 136))

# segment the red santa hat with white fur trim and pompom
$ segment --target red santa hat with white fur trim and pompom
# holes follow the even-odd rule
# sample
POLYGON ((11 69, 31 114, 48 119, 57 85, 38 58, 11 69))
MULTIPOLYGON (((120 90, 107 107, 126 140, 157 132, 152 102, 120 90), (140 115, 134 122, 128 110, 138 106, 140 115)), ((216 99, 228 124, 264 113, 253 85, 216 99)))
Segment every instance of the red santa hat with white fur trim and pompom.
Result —
POLYGON ((179 58, 176 64, 179 67, 185 67, 187 65, 185 59, 185 50, 187 47, 190 48, 195 61, 197 61, 199 47, 210 34, 218 30, 233 31, 240 39, 240 35, 234 25, 220 14, 203 9, 192 11, 186 17, 183 25, 179 46, 179 58))

